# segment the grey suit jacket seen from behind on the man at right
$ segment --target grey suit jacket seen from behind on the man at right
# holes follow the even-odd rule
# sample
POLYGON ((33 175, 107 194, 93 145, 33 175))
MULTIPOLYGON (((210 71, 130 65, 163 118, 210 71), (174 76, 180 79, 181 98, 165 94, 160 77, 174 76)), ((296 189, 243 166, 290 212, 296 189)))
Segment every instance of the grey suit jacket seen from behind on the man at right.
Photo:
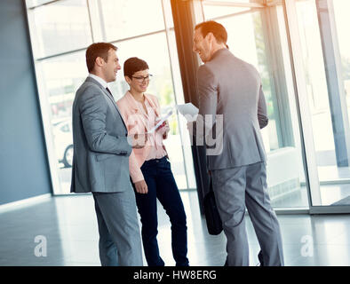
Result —
POLYGON ((216 138, 222 136, 217 141, 222 151, 208 155, 207 147, 208 170, 266 162, 260 128, 267 125, 268 119, 256 68, 236 58, 231 51, 221 49, 198 68, 197 83, 199 114, 223 115, 222 128, 217 120, 209 126, 216 138))

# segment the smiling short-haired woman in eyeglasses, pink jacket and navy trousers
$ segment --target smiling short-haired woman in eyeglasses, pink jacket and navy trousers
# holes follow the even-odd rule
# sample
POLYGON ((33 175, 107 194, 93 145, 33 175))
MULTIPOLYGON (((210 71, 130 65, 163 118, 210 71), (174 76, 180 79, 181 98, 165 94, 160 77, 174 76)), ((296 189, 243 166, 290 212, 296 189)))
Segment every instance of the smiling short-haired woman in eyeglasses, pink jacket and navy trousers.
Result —
POLYGON ((154 132, 147 133, 155 127, 161 114, 158 99, 146 93, 151 76, 148 73, 147 62, 136 57, 127 59, 123 72, 130 90, 116 103, 128 132, 138 134, 142 139, 145 134, 147 137, 146 145, 133 149, 129 160, 131 183, 141 217, 141 234, 147 264, 164 265, 156 239, 158 199, 171 221, 172 256, 177 266, 187 266, 186 214, 171 172, 168 154, 163 146, 163 139, 167 138, 170 130, 169 124, 164 122, 154 132))

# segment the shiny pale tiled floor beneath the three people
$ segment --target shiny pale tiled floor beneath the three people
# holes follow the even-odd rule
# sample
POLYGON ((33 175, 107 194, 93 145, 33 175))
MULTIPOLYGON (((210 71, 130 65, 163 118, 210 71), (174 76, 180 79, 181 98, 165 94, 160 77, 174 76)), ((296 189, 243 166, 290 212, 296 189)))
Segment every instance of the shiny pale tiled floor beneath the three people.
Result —
MULTIPOLYGON (((208 234, 195 192, 181 196, 190 264, 224 264, 225 235, 208 234)), ((161 206, 158 216, 161 255, 166 265, 174 265, 170 223, 161 206)), ((350 265, 350 215, 279 215, 278 219, 286 265, 350 265)), ((249 217, 246 221, 251 265, 256 265, 259 243, 249 217)), ((91 195, 54 197, 0 214, 0 265, 99 265, 98 240, 91 195), (46 256, 36 256, 45 252, 43 242, 35 242, 40 235, 47 241, 46 256)))

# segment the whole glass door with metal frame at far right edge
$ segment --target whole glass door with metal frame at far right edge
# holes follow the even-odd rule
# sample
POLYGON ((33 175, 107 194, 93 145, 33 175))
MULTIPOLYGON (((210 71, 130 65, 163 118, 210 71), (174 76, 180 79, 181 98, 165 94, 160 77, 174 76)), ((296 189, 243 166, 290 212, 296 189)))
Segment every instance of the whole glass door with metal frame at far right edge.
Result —
POLYGON ((350 3, 284 4, 298 99, 300 105, 304 102, 300 111, 306 151, 314 151, 314 156, 306 155, 306 162, 314 164, 308 167, 311 213, 350 212, 350 3))

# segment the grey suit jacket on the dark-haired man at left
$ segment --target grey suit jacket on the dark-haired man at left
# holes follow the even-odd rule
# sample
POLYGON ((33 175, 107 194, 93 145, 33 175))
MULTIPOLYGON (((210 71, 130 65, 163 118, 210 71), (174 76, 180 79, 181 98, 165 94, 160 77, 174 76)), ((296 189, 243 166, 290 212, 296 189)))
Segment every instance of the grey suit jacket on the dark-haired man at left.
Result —
POLYGON ((74 157, 71 192, 131 189, 127 130, 113 97, 88 77, 73 103, 74 157))

